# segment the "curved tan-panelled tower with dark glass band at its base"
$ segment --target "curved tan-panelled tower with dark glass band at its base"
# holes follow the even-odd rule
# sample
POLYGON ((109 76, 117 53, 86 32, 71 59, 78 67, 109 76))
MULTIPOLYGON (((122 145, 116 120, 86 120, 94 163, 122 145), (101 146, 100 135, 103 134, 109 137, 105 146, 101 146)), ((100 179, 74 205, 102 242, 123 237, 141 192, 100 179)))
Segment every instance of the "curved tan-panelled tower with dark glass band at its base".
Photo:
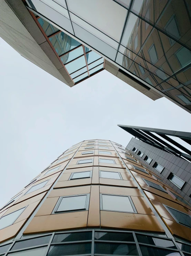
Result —
POLYGON ((1 208, 0 255, 189 256, 180 198, 122 145, 82 141, 1 208))

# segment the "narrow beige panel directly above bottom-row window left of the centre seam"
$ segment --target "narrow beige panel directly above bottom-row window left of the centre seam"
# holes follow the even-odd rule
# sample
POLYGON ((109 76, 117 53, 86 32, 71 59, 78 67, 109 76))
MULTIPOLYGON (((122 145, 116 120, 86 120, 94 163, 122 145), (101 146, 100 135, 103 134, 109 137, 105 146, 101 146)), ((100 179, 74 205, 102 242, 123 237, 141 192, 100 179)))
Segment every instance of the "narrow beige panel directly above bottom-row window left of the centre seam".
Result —
POLYGON ((81 186, 81 187, 68 187, 68 188, 60 188, 53 189, 49 197, 58 197, 58 196, 69 196, 69 195, 81 195, 81 194, 89 194, 91 186, 81 186))

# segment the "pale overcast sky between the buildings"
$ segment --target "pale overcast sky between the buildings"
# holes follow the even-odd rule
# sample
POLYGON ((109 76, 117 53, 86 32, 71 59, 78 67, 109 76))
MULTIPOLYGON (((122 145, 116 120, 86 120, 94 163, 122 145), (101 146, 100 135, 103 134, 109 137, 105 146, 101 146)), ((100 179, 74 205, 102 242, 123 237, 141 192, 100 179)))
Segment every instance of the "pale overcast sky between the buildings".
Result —
POLYGON ((105 139, 125 147, 132 136, 117 124, 190 132, 188 112, 106 70, 70 88, 1 38, 0 60, 0 206, 73 144, 105 139))

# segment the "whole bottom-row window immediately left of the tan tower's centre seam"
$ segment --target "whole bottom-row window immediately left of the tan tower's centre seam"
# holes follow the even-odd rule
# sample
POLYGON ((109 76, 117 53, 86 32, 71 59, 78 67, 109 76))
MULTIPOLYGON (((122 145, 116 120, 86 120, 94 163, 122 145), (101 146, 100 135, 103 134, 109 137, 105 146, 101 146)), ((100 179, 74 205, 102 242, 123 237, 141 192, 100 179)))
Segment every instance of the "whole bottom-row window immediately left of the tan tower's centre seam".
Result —
POLYGON ((86 211, 89 206, 89 194, 62 196, 59 198, 53 213, 86 211))

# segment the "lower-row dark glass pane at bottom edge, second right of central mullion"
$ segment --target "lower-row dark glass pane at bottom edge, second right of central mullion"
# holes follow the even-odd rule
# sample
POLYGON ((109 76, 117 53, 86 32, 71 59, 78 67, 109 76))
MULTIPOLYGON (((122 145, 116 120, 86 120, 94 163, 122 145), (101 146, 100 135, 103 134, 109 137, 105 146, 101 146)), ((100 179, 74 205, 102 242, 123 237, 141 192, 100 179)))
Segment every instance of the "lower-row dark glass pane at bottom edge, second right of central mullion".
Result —
POLYGON ((147 247, 140 245, 143 256, 181 256, 177 251, 165 250, 157 247, 147 247))

